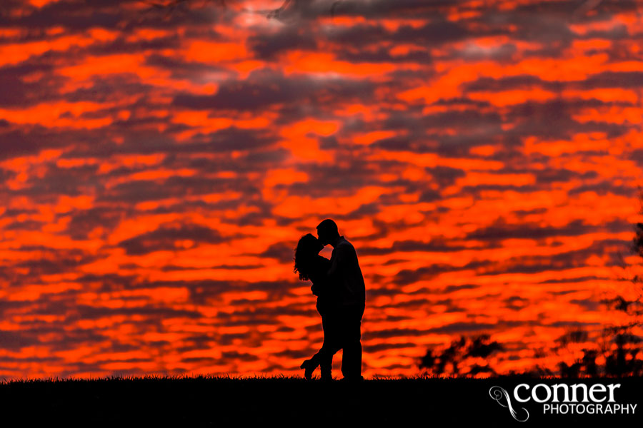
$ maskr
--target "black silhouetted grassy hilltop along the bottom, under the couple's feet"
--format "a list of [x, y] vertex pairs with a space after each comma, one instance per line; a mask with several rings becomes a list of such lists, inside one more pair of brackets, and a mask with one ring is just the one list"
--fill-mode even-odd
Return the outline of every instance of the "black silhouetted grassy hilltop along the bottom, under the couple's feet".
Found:
[[640, 417], [643, 409], [639, 408], [634, 415], [544, 415], [542, 404], [514, 401], [512, 405], [517, 411], [520, 407], [529, 410], [527, 422], [517, 422], [507, 407], [489, 396], [489, 389], [497, 385], [512, 394], [522, 382], [532, 386], [560, 382], [583, 382], [588, 386], [620, 383], [617, 402], [643, 401], [640, 377], [417, 377], [327, 384], [299, 377], [199, 376], [11, 381], [0, 384], [0, 403], [4, 426], [16, 427], [58, 423], [79, 427], [232, 427], [267, 423], [302, 427], [346, 423], [391, 427], [445, 423], [549, 427], [592, 422], [640, 426], [643, 419]]

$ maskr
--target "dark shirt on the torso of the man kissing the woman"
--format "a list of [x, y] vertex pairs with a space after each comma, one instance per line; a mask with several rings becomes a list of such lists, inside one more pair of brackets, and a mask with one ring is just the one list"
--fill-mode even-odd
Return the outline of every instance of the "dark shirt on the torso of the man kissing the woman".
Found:
[[357, 262], [357, 252], [353, 245], [344, 239], [344, 236], [339, 237], [339, 243], [334, 246], [330, 261], [328, 277], [332, 285], [339, 287], [340, 304], [364, 305], [366, 301], [364, 276]]

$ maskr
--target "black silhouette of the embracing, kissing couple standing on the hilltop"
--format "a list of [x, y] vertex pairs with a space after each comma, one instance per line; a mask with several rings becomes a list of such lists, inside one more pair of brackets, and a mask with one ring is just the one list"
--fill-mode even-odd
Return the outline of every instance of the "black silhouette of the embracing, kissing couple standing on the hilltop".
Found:
[[[333, 247], [330, 260], [319, 255], [327, 244]], [[321, 379], [332, 380], [333, 355], [343, 350], [342, 380], [363, 380], [361, 327], [366, 290], [355, 248], [327, 218], [317, 226], [317, 238], [311, 233], [301, 237], [294, 264], [299, 279], [312, 282], [324, 330], [321, 349], [301, 365], [304, 377], [311, 379], [319, 366]]]

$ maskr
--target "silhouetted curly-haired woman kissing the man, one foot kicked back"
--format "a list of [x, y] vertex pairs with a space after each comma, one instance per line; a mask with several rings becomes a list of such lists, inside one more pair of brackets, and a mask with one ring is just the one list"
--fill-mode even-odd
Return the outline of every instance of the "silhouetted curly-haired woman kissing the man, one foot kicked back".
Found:
[[324, 343], [321, 349], [310, 360], [305, 360], [301, 367], [304, 369], [304, 377], [311, 379], [312, 373], [321, 366], [321, 379], [332, 380], [333, 355], [337, 352], [334, 345], [337, 335], [334, 333], [334, 315], [337, 312], [338, 295], [327, 280], [327, 272], [330, 269], [330, 260], [319, 251], [324, 248], [319, 240], [308, 233], [299, 239], [294, 257], [294, 272], [299, 272], [299, 279], [310, 280], [310, 290], [317, 296], [317, 312], [321, 315], [321, 327], [324, 330]]

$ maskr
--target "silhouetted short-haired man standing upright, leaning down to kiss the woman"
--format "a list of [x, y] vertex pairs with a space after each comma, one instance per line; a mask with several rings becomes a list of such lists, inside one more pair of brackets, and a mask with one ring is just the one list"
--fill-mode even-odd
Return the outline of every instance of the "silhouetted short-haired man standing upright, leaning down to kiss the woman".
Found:
[[[359, 268], [357, 252], [351, 243], [339, 235], [337, 224], [327, 218], [317, 226], [317, 238], [321, 245], [333, 247], [328, 280], [331, 287], [337, 287], [337, 314], [332, 317], [333, 327], [329, 347], [324, 351], [324, 359], [340, 349], [342, 374], [347, 381], [363, 380], [362, 377], [362, 315], [366, 303], [364, 276]], [[344, 380], [343, 379], [343, 380]]]

